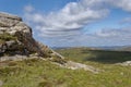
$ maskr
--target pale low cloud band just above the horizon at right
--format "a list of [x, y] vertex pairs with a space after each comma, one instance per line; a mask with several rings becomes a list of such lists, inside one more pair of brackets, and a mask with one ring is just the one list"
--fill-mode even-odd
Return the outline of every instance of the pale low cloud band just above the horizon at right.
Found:
[[[105, 28], [91, 35], [79, 35], [67, 39], [72, 46], [123, 46], [131, 44], [131, 27]], [[64, 44], [60, 42], [60, 44]], [[66, 45], [70, 46], [70, 45]]]

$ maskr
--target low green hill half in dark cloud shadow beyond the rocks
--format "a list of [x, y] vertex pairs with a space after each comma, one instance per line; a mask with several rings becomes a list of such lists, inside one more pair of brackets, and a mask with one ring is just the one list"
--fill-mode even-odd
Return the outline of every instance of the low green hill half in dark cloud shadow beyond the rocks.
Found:
[[73, 61], [95, 61], [100, 63], [119, 63], [131, 60], [130, 51], [111, 51], [88, 48], [69, 48], [56, 50]]

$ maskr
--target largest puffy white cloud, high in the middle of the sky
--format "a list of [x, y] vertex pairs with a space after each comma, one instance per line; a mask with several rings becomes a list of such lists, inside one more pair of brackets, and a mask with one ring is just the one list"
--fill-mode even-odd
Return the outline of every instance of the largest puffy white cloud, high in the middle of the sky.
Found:
[[[70, 32], [82, 29], [85, 25], [104, 18], [108, 14], [107, 9], [94, 5], [92, 3], [94, 0], [91, 0], [90, 5], [85, 4], [85, 1], [70, 2], [63, 9], [48, 14], [32, 13], [33, 9], [29, 5], [25, 8], [25, 17], [29, 23], [34, 23], [44, 35], [49, 34], [49, 32], [53, 33], [52, 35], [69, 32], [68, 35]], [[97, 9], [94, 9], [95, 7]]]

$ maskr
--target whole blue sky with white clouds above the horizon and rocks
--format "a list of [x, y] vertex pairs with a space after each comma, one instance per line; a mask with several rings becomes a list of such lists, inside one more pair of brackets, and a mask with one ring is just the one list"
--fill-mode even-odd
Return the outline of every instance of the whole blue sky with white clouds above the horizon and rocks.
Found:
[[49, 47], [131, 46], [131, 0], [0, 0]]

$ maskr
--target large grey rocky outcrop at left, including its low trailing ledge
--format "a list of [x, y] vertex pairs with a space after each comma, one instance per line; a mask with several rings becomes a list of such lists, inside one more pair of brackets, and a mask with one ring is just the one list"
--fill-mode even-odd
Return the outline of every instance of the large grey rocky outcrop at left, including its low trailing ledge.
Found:
[[[52, 61], [62, 67], [83, 69], [93, 73], [98, 70], [93, 66], [66, 61], [64, 58], [33, 38], [32, 28], [21, 17], [8, 13], [0, 13], [0, 61], [43, 59]], [[0, 80], [0, 86], [2, 82]]]

